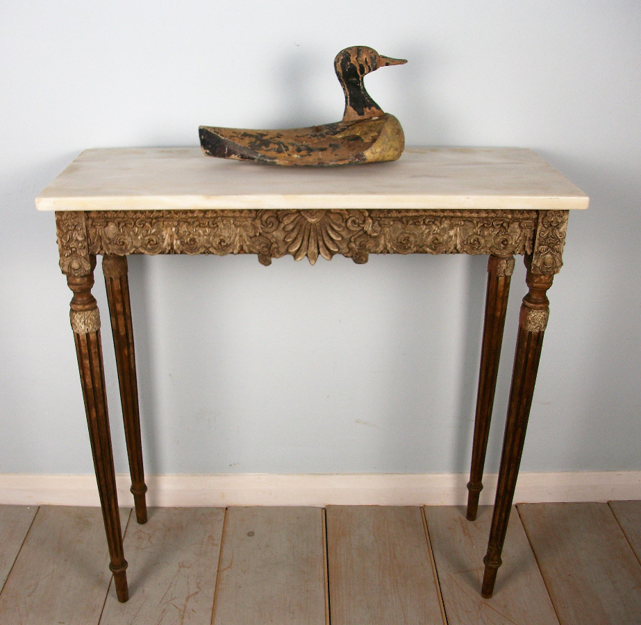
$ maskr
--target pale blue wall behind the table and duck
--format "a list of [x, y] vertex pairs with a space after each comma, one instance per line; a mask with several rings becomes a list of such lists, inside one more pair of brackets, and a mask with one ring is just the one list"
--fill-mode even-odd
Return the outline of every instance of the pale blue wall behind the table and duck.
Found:
[[[71, 293], [35, 196], [88, 147], [340, 119], [332, 60], [353, 44], [409, 59], [367, 79], [408, 144], [528, 147], [590, 196], [549, 292], [522, 468], [641, 469], [641, 3], [34, 0], [2, 3], [0, 24], [0, 473], [92, 471]], [[148, 472], [467, 471], [483, 258], [132, 258], [130, 272]], [[106, 327], [103, 342], [125, 472]]]

